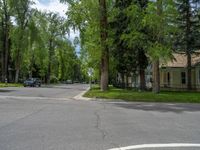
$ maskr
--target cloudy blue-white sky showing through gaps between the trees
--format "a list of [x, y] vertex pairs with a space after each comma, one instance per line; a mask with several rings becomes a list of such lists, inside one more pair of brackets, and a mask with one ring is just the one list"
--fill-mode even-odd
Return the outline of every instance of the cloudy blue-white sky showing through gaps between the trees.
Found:
[[[33, 0], [34, 1], [34, 5], [32, 6], [33, 8], [37, 8], [40, 11], [47, 11], [47, 12], [55, 12], [55, 13], [59, 13], [60, 16], [66, 18], [67, 16], [65, 15], [68, 6], [67, 4], [62, 4], [59, 2], [59, 0]], [[75, 37], [79, 37], [79, 32], [76, 31], [74, 32], [71, 29], [70, 32], [70, 37], [68, 37], [70, 39], [70, 41], [73, 42]], [[76, 48], [76, 51], [79, 52], [79, 46]]]

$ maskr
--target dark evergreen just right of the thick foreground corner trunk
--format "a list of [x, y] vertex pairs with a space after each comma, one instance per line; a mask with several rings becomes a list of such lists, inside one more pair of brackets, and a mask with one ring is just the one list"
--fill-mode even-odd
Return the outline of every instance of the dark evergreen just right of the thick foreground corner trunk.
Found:
[[116, 14], [110, 22], [113, 33], [112, 55], [115, 59], [116, 70], [121, 74], [121, 87], [127, 87], [127, 76], [137, 70], [137, 51], [129, 44], [131, 16], [127, 9], [132, 5], [132, 0], [117, 0], [114, 5]]

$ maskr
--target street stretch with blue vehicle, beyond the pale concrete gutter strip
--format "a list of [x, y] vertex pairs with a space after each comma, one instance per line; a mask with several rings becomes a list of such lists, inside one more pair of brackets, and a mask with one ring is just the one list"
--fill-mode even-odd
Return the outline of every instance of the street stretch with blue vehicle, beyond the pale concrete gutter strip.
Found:
[[72, 98], [85, 91], [89, 86], [81, 84], [61, 84], [38, 87], [10, 87], [0, 88], [0, 96], [17, 97], [48, 97], [48, 98]]

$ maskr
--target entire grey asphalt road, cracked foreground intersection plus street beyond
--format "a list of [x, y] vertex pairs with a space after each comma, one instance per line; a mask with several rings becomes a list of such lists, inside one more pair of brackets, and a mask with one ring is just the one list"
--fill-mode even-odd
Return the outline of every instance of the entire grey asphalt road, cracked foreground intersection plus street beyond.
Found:
[[[0, 150], [108, 150], [137, 144], [200, 143], [200, 105], [79, 101], [71, 98], [87, 87], [73, 87], [16, 88], [7, 94], [23, 96], [19, 93], [29, 89], [33, 93], [22, 99], [1, 97]], [[68, 100], [58, 100], [59, 93]]]

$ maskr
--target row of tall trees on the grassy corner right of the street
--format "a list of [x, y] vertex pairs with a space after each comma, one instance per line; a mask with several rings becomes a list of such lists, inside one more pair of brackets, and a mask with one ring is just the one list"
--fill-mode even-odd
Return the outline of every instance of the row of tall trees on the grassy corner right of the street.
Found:
[[174, 52], [187, 55], [191, 89], [191, 54], [200, 49], [199, 0], [61, 0], [68, 2], [69, 25], [80, 31], [82, 60], [95, 68], [101, 90], [120, 73], [138, 73], [145, 90], [145, 69], [152, 64], [153, 92], [160, 91], [160, 64]]

